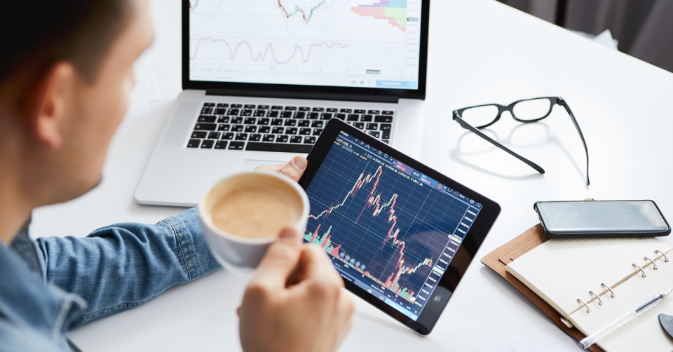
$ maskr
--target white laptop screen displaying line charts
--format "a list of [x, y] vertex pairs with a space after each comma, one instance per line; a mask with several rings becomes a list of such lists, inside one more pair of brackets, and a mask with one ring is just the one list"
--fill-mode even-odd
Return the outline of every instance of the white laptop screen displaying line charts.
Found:
[[418, 90], [421, 2], [190, 0], [189, 80]]

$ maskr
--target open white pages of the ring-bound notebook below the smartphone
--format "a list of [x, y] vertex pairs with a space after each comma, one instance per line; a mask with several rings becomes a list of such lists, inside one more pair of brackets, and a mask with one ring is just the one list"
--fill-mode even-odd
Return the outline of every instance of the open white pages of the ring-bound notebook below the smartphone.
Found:
[[[505, 269], [590, 335], [673, 288], [673, 248], [657, 238], [550, 239]], [[673, 314], [671, 298], [597, 344], [606, 352], [673, 351], [658, 321], [660, 313]]]

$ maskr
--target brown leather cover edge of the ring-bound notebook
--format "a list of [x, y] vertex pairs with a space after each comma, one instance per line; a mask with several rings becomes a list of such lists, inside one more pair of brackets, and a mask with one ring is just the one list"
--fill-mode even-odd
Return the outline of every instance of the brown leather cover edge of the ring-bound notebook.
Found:
[[[547, 240], [548, 238], [545, 236], [545, 230], [542, 225], [537, 224], [514, 238], [512, 241], [509, 241], [493, 252], [490, 252], [486, 257], [482, 258], [482, 263], [496, 271], [496, 273], [500, 274], [505, 280], [508, 280], [514, 287], [517, 287], [517, 290], [528, 297], [528, 299], [538, 306], [543, 313], [547, 314], [547, 316], [551, 318], [561, 330], [579, 341], [580, 339], [585, 338], [585, 335], [580, 332], [577, 327], [570, 328], [564, 325], [564, 323], [561, 322], [561, 318], [563, 318], [561, 313], [557, 312], [556, 309], [553, 309], [550, 304], [542, 299], [542, 297], [536, 295], [533, 290], [529, 289], [524, 283], [519, 281], [519, 279], [515, 278], [515, 276], [505, 270], [507, 264], [526, 254], [533, 248], [536, 248], [538, 245], [545, 243]], [[594, 352], [605, 352], [596, 344], [592, 345], [589, 349]]]

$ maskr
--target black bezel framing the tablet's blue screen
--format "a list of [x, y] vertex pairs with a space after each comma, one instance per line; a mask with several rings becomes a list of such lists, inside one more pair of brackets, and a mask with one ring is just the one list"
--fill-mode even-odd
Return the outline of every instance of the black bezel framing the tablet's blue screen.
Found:
[[465, 248], [467, 254], [470, 257], [470, 260], [451, 260], [451, 262], [449, 262], [449, 267], [447, 267], [444, 275], [442, 275], [439, 282], [437, 283], [433, 294], [428, 298], [426, 306], [423, 307], [423, 310], [419, 314], [418, 320], [414, 321], [412, 318], [405, 316], [403, 313], [397, 311], [392, 306], [384, 303], [381, 301], [381, 299], [378, 299], [374, 295], [358, 287], [355, 285], [355, 283], [351, 283], [351, 281], [344, 279], [346, 289], [353, 292], [353, 294], [385, 312], [388, 314], [388, 316], [395, 318], [395, 320], [399, 321], [400, 323], [407, 325], [407, 327], [418, 332], [419, 334], [429, 334], [430, 331], [433, 330], [435, 323], [437, 323], [437, 319], [444, 310], [444, 306], [447, 305], [451, 295], [456, 290], [458, 283], [463, 278], [463, 275], [468, 269], [469, 264], [473, 261], [473, 259], [475, 259], [477, 250], [479, 250], [480, 246], [484, 242], [484, 238], [486, 238], [487, 233], [491, 229], [491, 226], [493, 226], [494, 222], [496, 221], [496, 218], [498, 217], [498, 214], [501, 210], [500, 205], [494, 201], [491, 201], [491, 199], [478, 194], [472, 189], [463, 186], [463, 184], [460, 184], [451, 178], [442, 175], [442, 173], [433, 170], [427, 165], [416, 161], [414, 158], [402, 153], [402, 151], [398, 151], [397, 149], [390, 147], [390, 145], [386, 144], [385, 142], [381, 142], [381, 140], [377, 140], [364, 131], [359, 130], [358, 128], [355, 128], [339, 119], [331, 119], [327, 122], [327, 126], [325, 126], [325, 129], [322, 130], [320, 137], [318, 137], [318, 141], [315, 142], [313, 149], [311, 149], [311, 152], [306, 157], [308, 159], [308, 165], [306, 166], [304, 175], [301, 177], [301, 180], [299, 180], [299, 185], [304, 188], [304, 190], [308, 189], [308, 184], [311, 183], [315, 173], [318, 172], [320, 165], [322, 165], [322, 161], [325, 160], [325, 157], [334, 144], [334, 140], [337, 139], [341, 131], [348, 133], [348, 135], [353, 135], [354, 137], [362, 140], [372, 147], [379, 149], [380, 151], [393, 156], [393, 158], [396, 158], [402, 163], [409, 165], [411, 168], [414, 168], [428, 177], [433, 178], [437, 182], [440, 182], [441, 184], [444, 184], [451, 189], [455, 189], [464, 196], [474, 199], [477, 203], [482, 204], [482, 209], [475, 219], [475, 223], [470, 227], [468, 233], [465, 234], [463, 243], [461, 243], [461, 248]]

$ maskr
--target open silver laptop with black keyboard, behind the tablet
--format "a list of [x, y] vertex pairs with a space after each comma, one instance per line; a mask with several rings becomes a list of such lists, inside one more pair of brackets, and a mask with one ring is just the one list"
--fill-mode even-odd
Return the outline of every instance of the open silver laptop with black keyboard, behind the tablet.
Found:
[[182, 1], [182, 92], [135, 191], [195, 206], [341, 119], [419, 156], [429, 0]]

